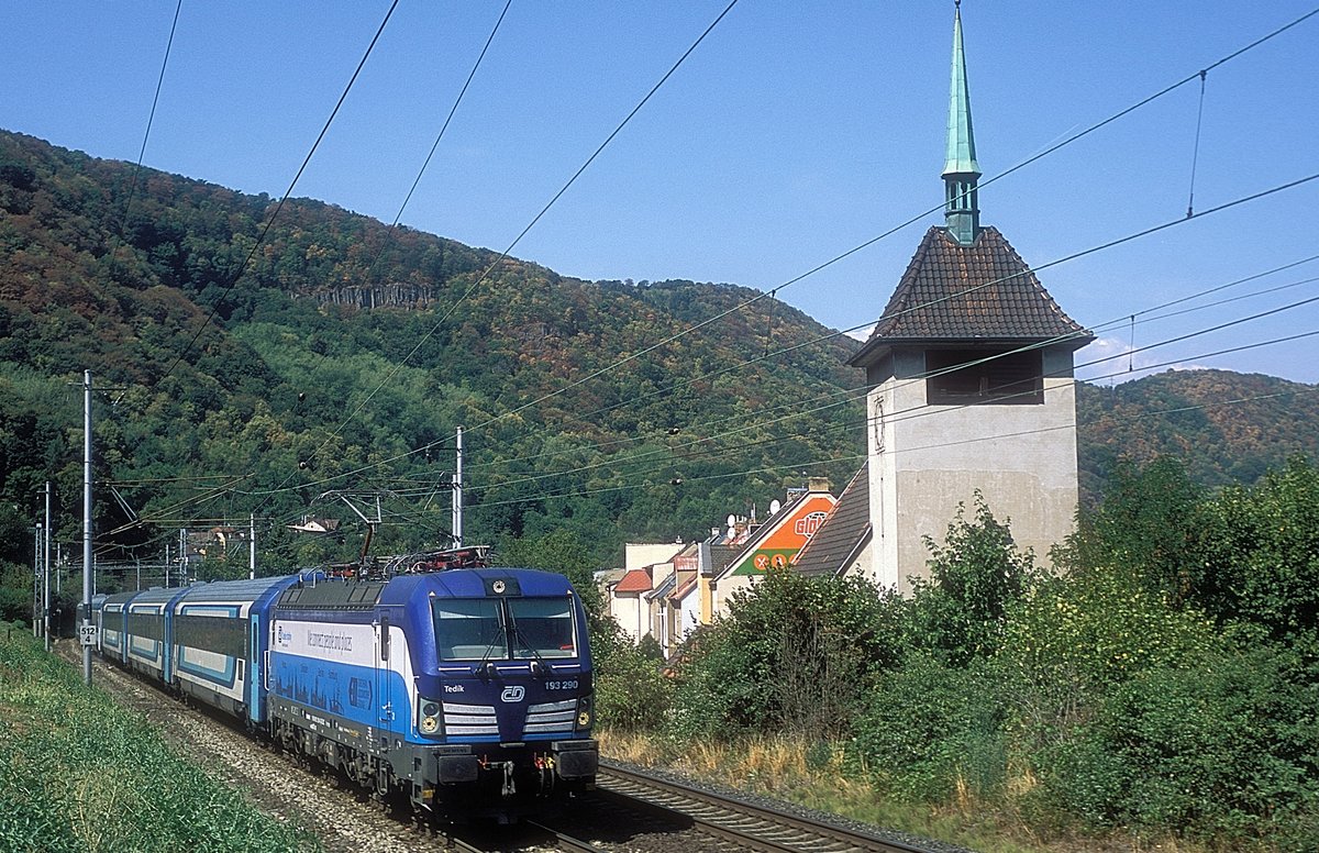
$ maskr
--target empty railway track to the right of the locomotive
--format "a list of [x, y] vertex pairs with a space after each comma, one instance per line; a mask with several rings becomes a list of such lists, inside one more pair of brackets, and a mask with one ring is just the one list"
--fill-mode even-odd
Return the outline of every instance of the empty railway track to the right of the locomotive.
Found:
[[819, 819], [748, 803], [732, 795], [600, 762], [599, 792], [692, 821], [704, 835], [741, 850], [772, 853], [934, 853], [946, 845], [917, 846]]

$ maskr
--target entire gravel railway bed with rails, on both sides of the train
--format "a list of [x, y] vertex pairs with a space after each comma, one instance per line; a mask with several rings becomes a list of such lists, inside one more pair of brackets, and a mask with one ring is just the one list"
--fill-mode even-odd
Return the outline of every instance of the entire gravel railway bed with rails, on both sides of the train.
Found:
[[[59, 649], [70, 658], [69, 649]], [[77, 651], [77, 649], [74, 649]], [[71, 659], [71, 658], [70, 658]], [[882, 837], [831, 824], [736, 795], [661, 779], [612, 762], [600, 762], [598, 791], [553, 819], [526, 821], [522, 831], [409, 825], [368, 806], [334, 780], [294, 770], [289, 762], [233, 726], [183, 707], [129, 674], [96, 661], [100, 687], [144, 713], [199, 763], [230, 782], [270, 813], [302, 823], [327, 852], [450, 849], [566, 850], [570, 853], [689, 853], [692, 850], [773, 850], [791, 853], [954, 853], [959, 848], [915, 838]], [[299, 804], [298, 808], [291, 808]], [[305, 808], [303, 808], [305, 807]]]

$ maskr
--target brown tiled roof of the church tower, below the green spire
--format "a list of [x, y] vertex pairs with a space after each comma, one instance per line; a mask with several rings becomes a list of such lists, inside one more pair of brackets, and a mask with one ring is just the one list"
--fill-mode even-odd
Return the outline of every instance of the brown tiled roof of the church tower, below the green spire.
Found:
[[900, 343], [1059, 339], [1071, 348], [1093, 336], [1067, 316], [997, 228], [971, 245], [931, 227], [907, 264], [865, 347], [848, 364]]

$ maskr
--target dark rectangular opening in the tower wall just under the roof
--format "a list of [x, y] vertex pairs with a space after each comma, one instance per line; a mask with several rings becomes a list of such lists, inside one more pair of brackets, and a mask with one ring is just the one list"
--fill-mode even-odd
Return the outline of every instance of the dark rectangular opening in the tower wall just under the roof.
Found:
[[930, 349], [925, 353], [926, 402], [1038, 405], [1045, 402], [1038, 349]]

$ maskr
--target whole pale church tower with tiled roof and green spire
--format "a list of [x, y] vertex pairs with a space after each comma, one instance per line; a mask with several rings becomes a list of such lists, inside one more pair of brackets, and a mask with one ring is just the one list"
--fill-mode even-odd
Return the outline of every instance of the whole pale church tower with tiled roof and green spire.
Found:
[[1093, 336], [1067, 316], [992, 225], [980, 225], [962, 11], [943, 167], [944, 224], [931, 227], [869, 340], [865, 370], [874, 580], [910, 592], [923, 537], [943, 541], [979, 490], [1021, 548], [1047, 564], [1078, 502], [1072, 363]]

